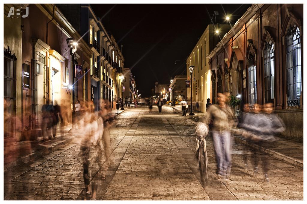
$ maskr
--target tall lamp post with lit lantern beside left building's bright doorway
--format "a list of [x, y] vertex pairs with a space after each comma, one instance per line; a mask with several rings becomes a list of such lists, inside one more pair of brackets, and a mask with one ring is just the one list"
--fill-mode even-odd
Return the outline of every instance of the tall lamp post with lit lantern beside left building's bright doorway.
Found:
[[73, 38], [66, 39], [68, 47], [70, 49], [70, 56], [72, 58], [72, 70], [71, 70], [71, 85], [69, 88], [72, 90], [72, 128], [69, 132], [72, 132], [73, 128], [76, 128], [76, 110], [75, 110], [75, 58], [78, 43]]

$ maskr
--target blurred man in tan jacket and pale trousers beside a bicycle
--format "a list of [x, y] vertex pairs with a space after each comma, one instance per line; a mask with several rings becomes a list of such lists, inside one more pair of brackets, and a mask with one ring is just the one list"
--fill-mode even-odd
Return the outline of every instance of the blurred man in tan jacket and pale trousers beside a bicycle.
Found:
[[206, 116], [202, 118], [205, 124], [209, 124], [211, 119], [213, 121], [212, 137], [218, 176], [228, 176], [231, 171], [230, 130], [235, 126], [235, 116], [225, 101], [225, 95], [218, 93], [217, 104], [209, 106]]

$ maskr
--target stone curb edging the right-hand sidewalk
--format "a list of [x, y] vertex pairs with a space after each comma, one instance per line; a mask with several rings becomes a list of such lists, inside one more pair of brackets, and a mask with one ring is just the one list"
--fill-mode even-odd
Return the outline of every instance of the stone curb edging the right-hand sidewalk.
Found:
[[[173, 109], [175, 109], [178, 113], [180, 112], [176, 108], [173, 108]], [[196, 116], [189, 116], [189, 118], [192, 119], [195, 122], [199, 121], [198, 117], [196, 117]], [[235, 141], [240, 142], [242, 144], [245, 144], [245, 145], [247, 145], [249, 147], [252, 147], [252, 148], [254, 148], [256, 150], [265, 152], [266, 154], [269, 154], [271, 157], [273, 157], [275, 159], [278, 159], [280, 161], [284, 161], [284, 162], [290, 163], [290, 164], [292, 164], [294, 166], [297, 166], [297, 167], [300, 167], [300, 168], [304, 168], [304, 162], [302, 160], [300, 160], [300, 159], [296, 159], [296, 158], [293, 158], [293, 157], [290, 157], [290, 156], [286, 156], [285, 154], [281, 154], [279, 152], [271, 150], [270, 148], [261, 147], [259, 145], [256, 145], [255, 143], [252, 143], [252, 142], [247, 141], [245, 139], [241, 139], [241, 138], [239, 138], [237, 136], [235, 136]]]

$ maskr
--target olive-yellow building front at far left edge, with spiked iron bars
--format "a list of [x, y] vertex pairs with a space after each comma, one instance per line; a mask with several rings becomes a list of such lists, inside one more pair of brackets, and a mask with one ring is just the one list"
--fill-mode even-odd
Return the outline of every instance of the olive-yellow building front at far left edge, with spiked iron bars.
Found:
[[[11, 8], [26, 8], [28, 4], [4, 4], [4, 56], [3, 56], [3, 137], [4, 145], [19, 140], [22, 122], [22, 24], [17, 18], [8, 17]], [[21, 10], [22, 12], [25, 9]], [[22, 14], [23, 15], [23, 14]], [[29, 83], [29, 82], [28, 82]], [[18, 123], [18, 124], [17, 124]], [[20, 131], [16, 131], [16, 129]]]

